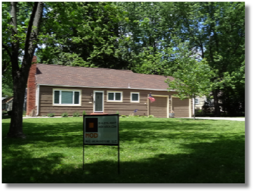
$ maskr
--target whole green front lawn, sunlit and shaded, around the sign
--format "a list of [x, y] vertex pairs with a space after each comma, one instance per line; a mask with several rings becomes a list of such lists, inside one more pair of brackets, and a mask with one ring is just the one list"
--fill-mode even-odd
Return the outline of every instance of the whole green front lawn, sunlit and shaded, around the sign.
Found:
[[[2, 183], [245, 183], [245, 122], [120, 118], [117, 146], [84, 146], [82, 117], [26, 118], [2, 139]], [[2, 120], [2, 137], [10, 119]]]

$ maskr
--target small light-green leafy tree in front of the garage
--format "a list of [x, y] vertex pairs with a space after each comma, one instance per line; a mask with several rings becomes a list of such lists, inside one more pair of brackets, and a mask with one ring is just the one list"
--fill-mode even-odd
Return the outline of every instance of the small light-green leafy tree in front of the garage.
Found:
[[[166, 83], [169, 85], [168, 89], [173, 89], [178, 92], [175, 95], [181, 100], [190, 98], [195, 101], [197, 96], [209, 96], [212, 84], [210, 78], [213, 72], [207, 64], [207, 61], [204, 59], [198, 61], [195, 54], [187, 49], [186, 44], [180, 44], [179, 50], [175, 52], [186, 54], [182, 56], [177, 55], [175, 59], [175, 71], [172, 73], [174, 80], [166, 80]], [[195, 103], [193, 108], [195, 110]]]

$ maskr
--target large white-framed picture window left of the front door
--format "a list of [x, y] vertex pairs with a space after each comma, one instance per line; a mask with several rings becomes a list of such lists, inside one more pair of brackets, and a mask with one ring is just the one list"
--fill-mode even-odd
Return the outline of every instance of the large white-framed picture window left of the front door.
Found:
[[53, 105], [81, 106], [81, 90], [53, 89]]

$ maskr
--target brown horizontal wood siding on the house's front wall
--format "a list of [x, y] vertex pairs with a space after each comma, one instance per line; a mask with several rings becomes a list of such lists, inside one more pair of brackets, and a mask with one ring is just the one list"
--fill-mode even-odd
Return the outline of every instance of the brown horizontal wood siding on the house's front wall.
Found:
[[[80, 89], [81, 90], [81, 106], [54, 106], [53, 105], [53, 89]], [[78, 112], [82, 115], [85, 110], [87, 114], [93, 113], [93, 97], [94, 91], [104, 91], [104, 113], [119, 115], [140, 115], [148, 116], [148, 103], [151, 103], [147, 97], [150, 92], [152, 95], [168, 95], [169, 97], [176, 92], [167, 91], [146, 91], [142, 89], [109, 89], [109, 88], [81, 88], [81, 87], [59, 87], [59, 86], [40, 86], [39, 94], [39, 116], [47, 116], [49, 113], [55, 113], [55, 116], [61, 116], [62, 113], [68, 113], [72, 116]], [[107, 102], [107, 91], [123, 92], [123, 102]], [[131, 92], [140, 93], [139, 103], [131, 102]], [[154, 103], [154, 102], [153, 102]], [[136, 113], [134, 110], [138, 109]], [[188, 107], [187, 107], [188, 109]], [[169, 103], [169, 111], [172, 110]], [[184, 115], [189, 117], [189, 115]]]

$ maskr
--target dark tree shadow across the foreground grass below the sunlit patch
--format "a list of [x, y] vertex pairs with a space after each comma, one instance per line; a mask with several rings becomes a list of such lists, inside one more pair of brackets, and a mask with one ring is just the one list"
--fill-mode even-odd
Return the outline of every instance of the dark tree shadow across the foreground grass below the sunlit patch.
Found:
[[[64, 153], [32, 158], [20, 149], [2, 160], [2, 183], [244, 183], [244, 138], [181, 145], [190, 154], [156, 154], [137, 161], [62, 163]], [[122, 153], [121, 153], [122, 155]], [[82, 157], [82, 155], [81, 155]]]

